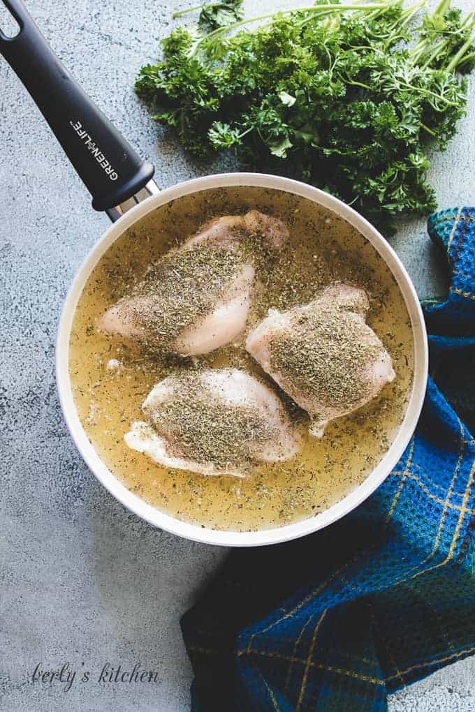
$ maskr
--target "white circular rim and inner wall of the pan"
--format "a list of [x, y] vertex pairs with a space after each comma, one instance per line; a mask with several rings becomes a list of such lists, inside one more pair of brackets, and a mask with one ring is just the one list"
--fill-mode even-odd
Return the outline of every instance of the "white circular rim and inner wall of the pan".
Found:
[[[91, 271], [93, 271], [93, 268], [110, 245], [135, 221], [155, 210], [158, 206], [186, 194], [232, 186], [259, 187], [291, 192], [333, 211], [352, 224], [380, 253], [380, 256], [395, 276], [407, 306], [414, 337], [414, 381], [404, 421], [395, 441], [393, 441], [390, 449], [372, 473], [343, 500], [324, 512], [293, 524], [253, 532], [221, 531], [189, 524], [165, 514], [130, 492], [105, 466], [90, 444], [88, 436], [80, 424], [73, 400], [68, 366], [69, 338], [75, 307]], [[98, 480], [125, 507], [151, 524], [187, 539], [222, 546], [256, 546], [295, 539], [327, 526], [362, 503], [390, 473], [412, 436], [424, 400], [427, 364], [427, 335], [417, 293], [402, 262], [382, 235], [367, 220], [357, 214], [355, 210], [323, 191], [291, 179], [256, 173], [216, 174], [181, 183], [138, 204], [122, 216], [119, 221], [110, 226], [85, 258], [83, 265], [75, 276], [63, 306], [56, 342], [56, 379], [63, 415], [76, 446]]]

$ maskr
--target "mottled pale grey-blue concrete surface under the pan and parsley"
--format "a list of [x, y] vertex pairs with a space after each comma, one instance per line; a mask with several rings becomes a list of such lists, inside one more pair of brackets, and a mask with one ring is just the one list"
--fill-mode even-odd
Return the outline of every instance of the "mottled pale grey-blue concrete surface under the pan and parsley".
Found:
[[[1, 3], [0, 3], [1, 5]], [[279, 6], [283, 6], [281, 3]], [[473, 0], [459, 0], [473, 9]], [[132, 91], [157, 56], [176, 0], [29, 0], [47, 38], [163, 187], [216, 169], [183, 155]], [[262, 9], [277, 7], [265, 0]], [[249, 11], [253, 8], [249, 3]], [[0, 21], [1, 26], [1, 21]], [[184, 712], [190, 669], [179, 633], [184, 612], [226, 552], [154, 530], [95, 481], [63, 424], [53, 374], [54, 337], [68, 284], [108, 219], [88, 195], [15, 76], [0, 61], [1, 592], [0, 708]], [[441, 206], [475, 201], [475, 83], [470, 118], [431, 178]], [[422, 296], [442, 293], [424, 220], [394, 241]], [[140, 661], [157, 684], [80, 684], [82, 671]], [[37, 664], [78, 671], [70, 691], [31, 684]], [[390, 710], [475, 709], [475, 660], [427, 678]]]

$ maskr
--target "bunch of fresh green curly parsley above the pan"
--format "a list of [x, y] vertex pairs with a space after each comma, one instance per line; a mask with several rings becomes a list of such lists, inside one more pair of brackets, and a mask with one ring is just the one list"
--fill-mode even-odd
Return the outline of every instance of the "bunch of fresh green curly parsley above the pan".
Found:
[[[240, 29], [241, 0], [202, 6], [136, 90], [198, 155], [234, 150], [249, 169], [291, 175], [394, 229], [436, 207], [427, 146], [444, 150], [465, 113], [475, 13], [442, 0], [340, 4], [264, 16]], [[231, 33], [231, 30], [238, 30]]]

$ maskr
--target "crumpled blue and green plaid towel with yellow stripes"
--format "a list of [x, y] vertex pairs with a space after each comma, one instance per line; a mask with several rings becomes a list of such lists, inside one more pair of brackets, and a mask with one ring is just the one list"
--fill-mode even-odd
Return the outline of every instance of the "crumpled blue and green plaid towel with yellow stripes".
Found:
[[451, 285], [423, 304], [432, 377], [417, 431], [343, 520], [229, 556], [182, 619], [193, 712], [379, 712], [475, 652], [475, 208], [428, 227]]

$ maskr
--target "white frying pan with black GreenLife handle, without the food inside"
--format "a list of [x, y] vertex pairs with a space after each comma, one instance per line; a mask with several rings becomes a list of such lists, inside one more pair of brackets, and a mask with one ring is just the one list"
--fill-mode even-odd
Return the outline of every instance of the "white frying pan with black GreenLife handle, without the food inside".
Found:
[[[152, 164], [142, 161], [109, 120], [63, 67], [26, 11], [21, 0], [2, 0], [19, 24], [8, 38], [0, 31], [0, 53], [35, 100], [76, 172], [93, 198], [93, 208], [105, 211], [113, 224], [95, 244], [75, 276], [63, 306], [56, 343], [56, 379], [63, 415], [83, 459], [105, 488], [123, 505], [153, 525], [179, 536], [226, 546], [278, 543], [306, 535], [343, 517], [387, 477], [414, 432], [427, 382], [427, 335], [416, 291], [382, 235], [353, 208], [329, 194], [288, 178], [260, 173], [217, 174], [197, 178], [160, 192], [152, 180]], [[343, 500], [308, 519], [249, 532], [202, 528], [167, 515], [129, 491], [105, 466], [90, 444], [75, 409], [68, 371], [69, 337], [75, 307], [90, 273], [101, 256], [125, 230], [157, 207], [194, 192], [217, 187], [276, 189], [306, 198], [345, 219], [380, 254], [390, 268], [407, 306], [414, 339], [414, 380], [404, 421], [395, 440], [365, 481]]]

